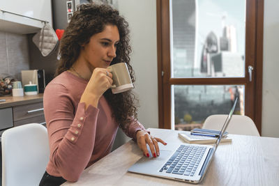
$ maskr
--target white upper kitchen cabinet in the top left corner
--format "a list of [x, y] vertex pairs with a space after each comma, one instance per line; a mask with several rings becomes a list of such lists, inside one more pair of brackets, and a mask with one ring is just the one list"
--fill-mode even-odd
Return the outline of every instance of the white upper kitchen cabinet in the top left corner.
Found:
[[40, 20], [49, 22], [52, 26], [51, 0], [0, 0], [1, 31], [20, 34], [36, 33], [45, 24]]

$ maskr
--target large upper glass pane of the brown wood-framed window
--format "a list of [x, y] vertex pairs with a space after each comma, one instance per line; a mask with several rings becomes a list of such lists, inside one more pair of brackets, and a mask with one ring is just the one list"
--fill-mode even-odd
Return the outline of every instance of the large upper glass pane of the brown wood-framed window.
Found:
[[170, 1], [172, 77], [245, 76], [245, 0]]

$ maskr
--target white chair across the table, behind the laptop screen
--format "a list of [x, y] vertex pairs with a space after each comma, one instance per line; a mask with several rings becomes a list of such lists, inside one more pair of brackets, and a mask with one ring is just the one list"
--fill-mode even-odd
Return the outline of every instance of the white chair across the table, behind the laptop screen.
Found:
[[[221, 130], [226, 118], [227, 115], [225, 114], [211, 115], [206, 118], [202, 128]], [[229, 132], [229, 134], [242, 134], [259, 137], [259, 132], [257, 131], [255, 123], [248, 116], [232, 115], [232, 119], [227, 126], [227, 132]]]

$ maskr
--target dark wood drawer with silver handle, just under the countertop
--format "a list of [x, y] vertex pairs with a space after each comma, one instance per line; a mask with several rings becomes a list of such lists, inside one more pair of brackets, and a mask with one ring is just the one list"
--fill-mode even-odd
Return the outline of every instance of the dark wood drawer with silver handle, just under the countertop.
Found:
[[20, 121], [27, 118], [43, 115], [43, 102], [24, 104], [13, 107], [13, 121]]

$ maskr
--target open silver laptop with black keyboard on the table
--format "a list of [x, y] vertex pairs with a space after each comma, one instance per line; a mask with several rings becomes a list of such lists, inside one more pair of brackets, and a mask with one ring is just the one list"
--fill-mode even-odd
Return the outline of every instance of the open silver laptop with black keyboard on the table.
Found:
[[128, 171], [188, 183], [201, 182], [229, 125], [237, 100], [238, 98], [234, 101], [214, 146], [177, 143], [168, 143], [167, 146], [163, 146], [159, 144], [160, 156], [142, 157], [130, 166]]

